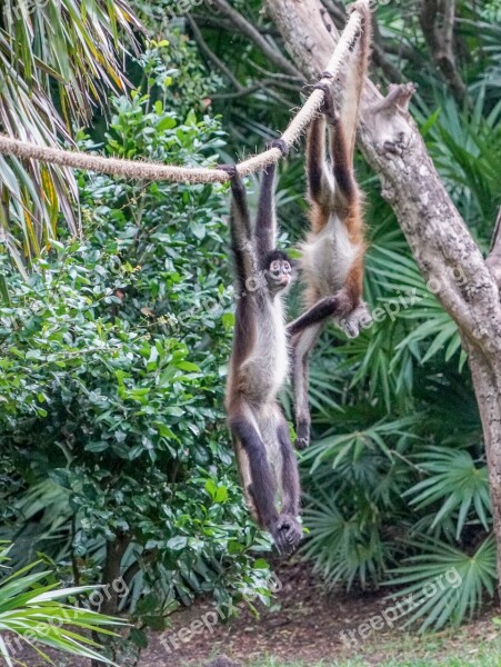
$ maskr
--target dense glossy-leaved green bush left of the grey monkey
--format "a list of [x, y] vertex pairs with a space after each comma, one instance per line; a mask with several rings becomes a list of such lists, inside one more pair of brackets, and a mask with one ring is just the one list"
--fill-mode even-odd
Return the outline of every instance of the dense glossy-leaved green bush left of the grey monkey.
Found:
[[[158, 50], [148, 58], [160, 67]], [[164, 100], [169, 84], [154, 84]], [[154, 97], [113, 100], [106, 150], [212, 163], [219, 121]], [[229, 468], [222, 412], [233, 323], [223, 189], [92, 175], [79, 186], [84, 242], [52, 243], [28, 282], [0, 256], [0, 448], [18, 471], [4, 499], [44, 522], [39, 540], [67, 540], [67, 576], [123, 576], [140, 627], [164, 627], [197, 594], [267, 599], [253, 551], [270, 542]]]

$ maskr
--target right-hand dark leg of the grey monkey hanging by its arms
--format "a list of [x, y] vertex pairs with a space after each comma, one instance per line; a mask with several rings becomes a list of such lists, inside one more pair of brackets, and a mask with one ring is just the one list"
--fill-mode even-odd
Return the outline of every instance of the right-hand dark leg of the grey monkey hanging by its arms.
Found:
[[302, 539], [301, 524], [298, 521], [300, 502], [300, 482], [298, 461], [292, 449], [289, 426], [280, 412], [278, 415], [277, 438], [281, 455], [282, 508], [278, 521], [277, 540], [283, 544], [283, 550], [295, 551]]

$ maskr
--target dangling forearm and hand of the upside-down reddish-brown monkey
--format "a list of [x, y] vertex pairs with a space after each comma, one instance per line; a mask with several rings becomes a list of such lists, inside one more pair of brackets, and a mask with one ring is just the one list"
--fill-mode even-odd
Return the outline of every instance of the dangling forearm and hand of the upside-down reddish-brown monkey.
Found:
[[292, 384], [294, 392], [295, 447], [304, 449], [310, 444], [309, 354], [313, 348], [321, 323], [303, 329], [292, 338]]

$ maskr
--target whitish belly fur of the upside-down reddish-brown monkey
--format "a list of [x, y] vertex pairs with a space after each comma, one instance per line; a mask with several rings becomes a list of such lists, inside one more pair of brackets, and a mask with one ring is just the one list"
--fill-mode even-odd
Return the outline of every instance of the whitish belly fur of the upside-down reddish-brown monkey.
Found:
[[322, 231], [310, 235], [301, 250], [301, 267], [308, 282], [327, 297], [344, 285], [361, 247], [350, 241], [345, 226], [338, 216], [331, 215]]

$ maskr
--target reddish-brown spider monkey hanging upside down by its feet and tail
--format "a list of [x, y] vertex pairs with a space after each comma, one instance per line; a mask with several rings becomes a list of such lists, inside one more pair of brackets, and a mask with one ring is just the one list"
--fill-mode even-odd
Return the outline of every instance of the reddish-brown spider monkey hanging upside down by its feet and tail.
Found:
[[[288, 327], [292, 345], [292, 381], [297, 447], [310, 442], [308, 357], [323, 323], [333, 318], [349, 337], [355, 337], [371, 317], [362, 301], [365, 242], [362, 193], [353, 176], [353, 152], [363, 80], [369, 64], [371, 16], [365, 2], [357, 2], [361, 33], [345, 67], [342, 104], [332, 87], [319, 82], [324, 93], [321, 116], [311, 122], [307, 143], [307, 179], [311, 231], [302, 243], [301, 270], [307, 282], [308, 310]], [[323, 78], [331, 78], [329, 72]], [[325, 121], [330, 163], [325, 159]]]

